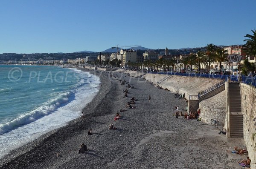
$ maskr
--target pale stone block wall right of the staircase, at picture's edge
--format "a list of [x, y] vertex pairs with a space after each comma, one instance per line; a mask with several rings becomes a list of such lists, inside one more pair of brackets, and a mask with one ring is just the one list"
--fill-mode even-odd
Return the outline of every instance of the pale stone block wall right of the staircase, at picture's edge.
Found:
[[248, 154], [251, 159], [251, 169], [256, 168], [256, 88], [244, 83], [240, 83], [241, 109], [244, 119], [244, 142], [247, 146]]

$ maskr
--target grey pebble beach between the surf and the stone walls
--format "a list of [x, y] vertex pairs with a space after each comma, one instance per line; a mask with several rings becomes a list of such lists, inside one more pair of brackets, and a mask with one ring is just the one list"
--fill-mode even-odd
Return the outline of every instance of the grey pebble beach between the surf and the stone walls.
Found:
[[[123, 98], [125, 85], [110, 80], [104, 72], [100, 78], [102, 88], [83, 109], [90, 112], [85, 119], [72, 120], [22, 147], [25, 154], [15, 157], [22, 150], [13, 151], [9, 156], [13, 159], [0, 160], [0, 168], [222, 168], [227, 164], [236, 168], [232, 165], [236, 157], [224, 152], [236, 140], [221, 137], [213, 130], [218, 128], [202, 122], [175, 119], [174, 106], [186, 105], [185, 100], [175, 99], [172, 92], [157, 89], [142, 78], [130, 77], [122, 79], [135, 89], [129, 89], [131, 94]], [[117, 130], [108, 130], [116, 111], [123, 109], [132, 96], [139, 99], [136, 108], [120, 113], [123, 119], [115, 122]], [[90, 128], [94, 133], [91, 137], [87, 136]], [[83, 142], [89, 152], [78, 155]], [[207, 163], [209, 160], [211, 163]]]

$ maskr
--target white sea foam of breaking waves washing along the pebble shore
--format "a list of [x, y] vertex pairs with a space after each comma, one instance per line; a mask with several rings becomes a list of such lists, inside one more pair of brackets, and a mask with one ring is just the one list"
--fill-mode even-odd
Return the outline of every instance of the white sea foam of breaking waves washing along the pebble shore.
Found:
[[83, 74], [78, 83], [70, 86], [68, 92], [51, 91], [55, 98], [39, 108], [22, 115], [15, 120], [0, 125], [0, 158], [25, 143], [39, 137], [45, 132], [64, 126], [68, 121], [81, 116], [81, 110], [99, 91], [99, 77], [87, 72], [73, 71]]

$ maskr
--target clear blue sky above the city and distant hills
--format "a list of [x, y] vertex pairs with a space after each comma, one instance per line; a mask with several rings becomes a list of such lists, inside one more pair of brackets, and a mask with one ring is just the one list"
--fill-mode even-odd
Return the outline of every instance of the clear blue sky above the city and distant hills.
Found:
[[1, 53], [244, 44], [256, 0], [0, 0]]

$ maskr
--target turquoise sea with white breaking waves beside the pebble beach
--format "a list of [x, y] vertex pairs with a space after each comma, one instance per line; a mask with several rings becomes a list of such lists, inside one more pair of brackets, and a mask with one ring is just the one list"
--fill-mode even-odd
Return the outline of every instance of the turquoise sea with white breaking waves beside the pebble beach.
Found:
[[100, 83], [75, 68], [0, 65], [0, 158], [81, 116]]

